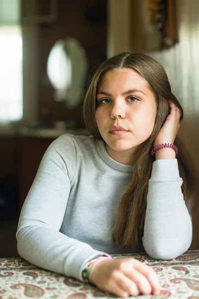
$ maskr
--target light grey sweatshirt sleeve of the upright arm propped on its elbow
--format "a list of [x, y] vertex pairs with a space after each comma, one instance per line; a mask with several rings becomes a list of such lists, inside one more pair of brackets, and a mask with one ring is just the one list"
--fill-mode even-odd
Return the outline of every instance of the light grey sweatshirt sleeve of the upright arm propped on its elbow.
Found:
[[185, 204], [177, 159], [153, 162], [144, 224], [143, 246], [154, 259], [174, 259], [192, 242], [192, 219]]

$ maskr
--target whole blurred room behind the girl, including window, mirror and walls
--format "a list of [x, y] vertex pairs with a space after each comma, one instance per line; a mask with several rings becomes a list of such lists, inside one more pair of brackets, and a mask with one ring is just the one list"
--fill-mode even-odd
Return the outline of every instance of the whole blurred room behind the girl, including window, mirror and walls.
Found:
[[[47, 147], [88, 135], [88, 80], [112, 55], [144, 50], [165, 67], [199, 170], [198, 16], [199, 0], [0, 0], [0, 257], [18, 256], [20, 209]], [[199, 249], [199, 215], [193, 224]]]

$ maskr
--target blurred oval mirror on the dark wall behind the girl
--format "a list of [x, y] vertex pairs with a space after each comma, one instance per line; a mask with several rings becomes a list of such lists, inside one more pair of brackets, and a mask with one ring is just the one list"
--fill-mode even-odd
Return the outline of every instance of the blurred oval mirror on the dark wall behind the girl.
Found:
[[58, 40], [47, 60], [47, 75], [57, 102], [69, 109], [77, 107], [84, 96], [88, 63], [84, 48], [72, 37]]

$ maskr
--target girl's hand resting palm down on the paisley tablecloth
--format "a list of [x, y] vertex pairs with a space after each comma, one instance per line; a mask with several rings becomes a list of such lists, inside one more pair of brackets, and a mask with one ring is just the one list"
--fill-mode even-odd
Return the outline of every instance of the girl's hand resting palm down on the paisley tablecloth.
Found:
[[94, 266], [91, 280], [101, 290], [119, 297], [160, 292], [155, 271], [133, 258], [102, 259]]

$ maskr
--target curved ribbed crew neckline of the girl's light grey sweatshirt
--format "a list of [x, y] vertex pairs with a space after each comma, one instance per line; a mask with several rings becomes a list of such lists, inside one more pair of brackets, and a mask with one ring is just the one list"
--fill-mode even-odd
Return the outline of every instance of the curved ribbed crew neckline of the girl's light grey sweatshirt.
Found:
[[122, 172], [132, 172], [133, 171], [133, 165], [126, 165], [122, 164], [120, 162], [115, 161], [109, 154], [107, 153], [105, 149], [105, 143], [103, 140], [96, 140], [96, 147], [98, 154], [100, 158], [106, 163], [109, 167], [122, 171]]

